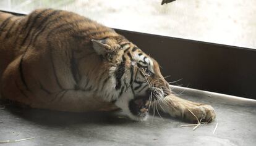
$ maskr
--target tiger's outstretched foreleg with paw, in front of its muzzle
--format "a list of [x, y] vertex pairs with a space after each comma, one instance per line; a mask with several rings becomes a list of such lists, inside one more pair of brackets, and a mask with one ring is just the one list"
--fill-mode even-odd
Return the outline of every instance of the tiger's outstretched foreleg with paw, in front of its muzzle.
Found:
[[[173, 94], [164, 97], [163, 100], [156, 101], [155, 104], [157, 110], [192, 123], [211, 122], [216, 117], [215, 110], [211, 105], [190, 102]], [[151, 104], [152, 107], [154, 108], [153, 104]]]

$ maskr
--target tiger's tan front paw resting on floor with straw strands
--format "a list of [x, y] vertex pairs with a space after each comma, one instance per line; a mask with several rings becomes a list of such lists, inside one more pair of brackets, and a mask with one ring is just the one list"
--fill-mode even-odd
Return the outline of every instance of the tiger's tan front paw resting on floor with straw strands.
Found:
[[199, 103], [184, 109], [183, 118], [192, 123], [207, 122], [215, 120], [216, 113], [211, 105]]

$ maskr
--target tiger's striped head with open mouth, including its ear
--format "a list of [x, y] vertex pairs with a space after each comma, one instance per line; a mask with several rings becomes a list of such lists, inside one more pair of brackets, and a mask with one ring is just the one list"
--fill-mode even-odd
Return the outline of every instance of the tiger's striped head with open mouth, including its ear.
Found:
[[152, 101], [171, 94], [158, 62], [123, 36], [92, 39], [92, 44], [108, 70], [102, 83], [103, 98], [132, 120], [146, 120]]

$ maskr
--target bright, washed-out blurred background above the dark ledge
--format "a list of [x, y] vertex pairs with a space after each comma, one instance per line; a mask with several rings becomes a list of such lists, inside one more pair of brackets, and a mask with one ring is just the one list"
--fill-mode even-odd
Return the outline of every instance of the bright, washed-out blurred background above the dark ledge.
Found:
[[0, 9], [70, 10], [111, 28], [256, 49], [255, 0], [1, 0]]

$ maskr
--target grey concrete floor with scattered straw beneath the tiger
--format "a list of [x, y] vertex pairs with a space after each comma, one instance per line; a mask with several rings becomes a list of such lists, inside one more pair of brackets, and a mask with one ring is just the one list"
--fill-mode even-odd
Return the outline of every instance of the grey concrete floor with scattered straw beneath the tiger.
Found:
[[213, 105], [217, 119], [193, 131], [193, 127], [181, 128], [187, 123], [164, 113], [163, 118], [150, 116], [148, 121], [134, 122], [116, 113], [66, 113], [6, 105], [0, 110], [0, 141], [35, 139], [0, 145], [256, 145], [256, 100], [176, 89], [182, 91], [182, 98]]

